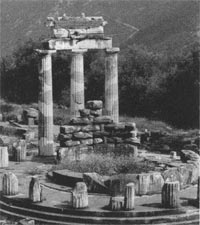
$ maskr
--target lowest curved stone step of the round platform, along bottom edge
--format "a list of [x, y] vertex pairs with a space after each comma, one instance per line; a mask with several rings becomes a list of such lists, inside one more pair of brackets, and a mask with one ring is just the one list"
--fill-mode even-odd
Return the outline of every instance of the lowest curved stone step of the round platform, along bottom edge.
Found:
[[42, 212], [38, 210], [31, 210], [24, 207], [17, 207], [14, 205], [9, 205], [4, 202], [0, 202], [1, 209], [11, 211], [13, 213], [26, 215], [27, 217], [33, 216], [40, 219], [48, 218], [49, 220], [57, 220], [60, 222], [70, 222], [72, 223], [83, 223], [83, 224], [161, 224], [171, 222], [185, 222], [189, 220], [197, 220], [199, 218], [198, 211], [190, 212], [181, 215], [165, 215], [165, 216], [156, 216], [156, 217], [93, 217], [93, 216], [74, 216], [66, 214], [56, 214], [49, 212]]

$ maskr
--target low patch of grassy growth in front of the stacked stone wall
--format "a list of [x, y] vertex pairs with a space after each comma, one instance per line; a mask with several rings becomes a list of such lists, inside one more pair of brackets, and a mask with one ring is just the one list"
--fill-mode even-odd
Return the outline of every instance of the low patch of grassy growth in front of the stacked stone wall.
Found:
[[81, 161], [66, 161], [54, 166], [53, 170], [69, 169], [75, 172], [96, 172], [100, 175], [119, 173], [142, 173], [154, 170], [155, 165], [147, 161], [137, 161], [134, 157], [91, 153]]

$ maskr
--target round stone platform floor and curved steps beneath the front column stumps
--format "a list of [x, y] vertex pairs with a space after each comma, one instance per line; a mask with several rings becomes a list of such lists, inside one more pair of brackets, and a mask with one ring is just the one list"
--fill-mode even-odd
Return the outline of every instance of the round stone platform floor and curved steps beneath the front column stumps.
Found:
[[[19, 179], [20, 195], [1, 195], [0, 211], [19, 218], [32, 218], [38, 224], [199, 224], [199, 209], [193, 205], [197, 185], [180, 191], [181, 207], [161, 207], [161, 195], [135, 197], [135, 209], [131, 211], [110, 211], [109, 195], [89, 194], [89, 207], [71, 208], [71, 188], [52, 183], [46, 179], [50, 164], [42, 162], [10, 162], [9, 169], [0, 169], [0, 178], [7, 171], [14, 172]], [[31, 203], [28, 199], [28, 185], [33, 173], [38, 173], [43, 186], [44, 201]], [[0, 184], [1, 189], [1, 184]]]

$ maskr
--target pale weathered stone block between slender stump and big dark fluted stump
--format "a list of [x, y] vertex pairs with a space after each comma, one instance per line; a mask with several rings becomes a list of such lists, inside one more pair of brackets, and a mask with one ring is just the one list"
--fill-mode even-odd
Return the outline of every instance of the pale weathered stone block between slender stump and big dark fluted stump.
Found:
[[159, 172], [142, 173], [138, 175], [138, 194], [161, 193], [164, 179]]

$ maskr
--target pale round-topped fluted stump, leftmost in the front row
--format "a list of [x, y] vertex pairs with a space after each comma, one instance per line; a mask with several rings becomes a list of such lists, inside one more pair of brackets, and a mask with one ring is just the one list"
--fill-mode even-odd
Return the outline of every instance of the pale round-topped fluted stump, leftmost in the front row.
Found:
[[2, 193], [9, 196], [18, 194], [18, 179], [14, 173], [9, 172], [3, 175]]

